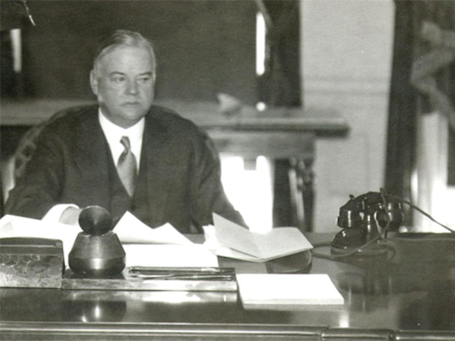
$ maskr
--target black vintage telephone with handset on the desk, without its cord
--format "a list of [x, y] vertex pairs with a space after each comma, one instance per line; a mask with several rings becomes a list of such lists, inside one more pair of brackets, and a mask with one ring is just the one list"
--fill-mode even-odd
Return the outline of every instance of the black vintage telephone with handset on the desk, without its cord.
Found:
[[378, 247], [381, 240], [378, 225], [383, 231], [398, 230], [403, 223], [401, 209], [400, 201], [382, 191], [356, 197], [351, 195], [338, 213], [336, 225], [343, 230], [332, 241], [332, 253], [347, 254], [355, 253], [356, 250], [362, 254], [381, 252], [381, 247]]

